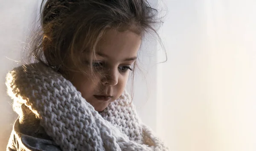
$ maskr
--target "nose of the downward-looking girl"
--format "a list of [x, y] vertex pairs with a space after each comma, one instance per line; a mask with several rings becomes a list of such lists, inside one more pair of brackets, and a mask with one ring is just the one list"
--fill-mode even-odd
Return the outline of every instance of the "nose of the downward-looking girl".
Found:
[[109, 69], [105, 74], [105, 83], [106, 85], [114, 86], [118, 83], [118, 71], [115, 69]]

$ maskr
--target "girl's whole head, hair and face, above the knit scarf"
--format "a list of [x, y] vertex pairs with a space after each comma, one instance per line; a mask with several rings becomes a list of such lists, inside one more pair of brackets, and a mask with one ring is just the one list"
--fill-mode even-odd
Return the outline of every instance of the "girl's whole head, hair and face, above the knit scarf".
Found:
[[43, 0], [31, 56], [102, 111], [124, 91], [145, 33], [156, 33], [156, 12], [146, 0]]

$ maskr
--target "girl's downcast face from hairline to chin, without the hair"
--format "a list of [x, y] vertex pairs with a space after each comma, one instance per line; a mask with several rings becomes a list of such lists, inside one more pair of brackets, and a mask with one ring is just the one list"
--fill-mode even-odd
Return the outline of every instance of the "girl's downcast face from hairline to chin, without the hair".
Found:
[[[132, 31], [108, 30], [99, 41], [93, 60], [95, 75], [73, 72], [67, 79], [96, 111], [103, 111], [120, 97], [137, 58], [141, 36]], [[84, 56], [87, 62], [87, 56]]]

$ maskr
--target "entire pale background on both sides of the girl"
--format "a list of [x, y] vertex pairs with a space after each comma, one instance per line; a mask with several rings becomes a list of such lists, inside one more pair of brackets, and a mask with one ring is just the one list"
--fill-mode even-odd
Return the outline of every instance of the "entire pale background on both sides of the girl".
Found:
[[[20, 60], [36, 0], [0, 0], [0, 151], [16, 114], [5, 76]], [[134, 103], [170, 151], [256, 150], [256, 1], [150, 0], [168, 10], [140, 54]], [[9, 59], [8, 59], [9, 58]], [[147, 84], [147, 85], [146, 85]]]

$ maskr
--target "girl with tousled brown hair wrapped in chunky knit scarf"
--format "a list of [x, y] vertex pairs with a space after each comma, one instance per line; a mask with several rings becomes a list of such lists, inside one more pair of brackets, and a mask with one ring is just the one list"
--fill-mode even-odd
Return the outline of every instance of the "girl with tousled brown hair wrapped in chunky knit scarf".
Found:
[[37, 62], [6, 77], [19, 115], [7, 150], [168, 150], [125, 91], [155, 11], [146, 0], [43, 0]]

